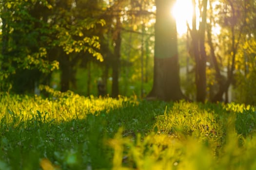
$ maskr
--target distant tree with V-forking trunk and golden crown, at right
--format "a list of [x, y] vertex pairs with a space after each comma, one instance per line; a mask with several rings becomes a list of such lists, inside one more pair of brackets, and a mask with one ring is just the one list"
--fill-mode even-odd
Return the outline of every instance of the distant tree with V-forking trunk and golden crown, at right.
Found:
[[[218, 79], [218, 90], [212, 102], [223, 101], [224, 94], [226, 94], [225, 102], [228, 102], [228, 89], [235, 81], [234, 74], [238, 63], [237, 57], [239, 49], [242, 48], [241, 43], [246, 42], [246, 36], [251, 32], [251, 30], [245, 30], [246, 22], [250, 20], [250, 14], [247, 10], [251, 5], [253, 6], [254, 2], [250, 3], [251, 4], [248, 5], [245, 1], [225, 0], [221, 1], [216, 7], [216, 11], [220, 11], [218, 14], [219, 17], [217, 17], [217, 23], [222, 29], [219, 35], [220, 49], [222, 51], [220, 55], [225, 56], [223, 60], [227, 75], [226, 79]], [[244, 51], [242, 52], [242, 56], [243, 55]], [[216, 67], [216, 71], [217, 74], [220, 75], [220, 69]]]

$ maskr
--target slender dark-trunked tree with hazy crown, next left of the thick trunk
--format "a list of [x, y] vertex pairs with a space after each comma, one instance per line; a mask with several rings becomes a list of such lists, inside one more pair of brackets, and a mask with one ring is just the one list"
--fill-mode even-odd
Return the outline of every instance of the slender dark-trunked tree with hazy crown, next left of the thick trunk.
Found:
[[[112, 97], [117, 97], [120, 94], [120, 77], [122, 74], [122, 69], [125, 69], [125, 85], [121, 87], [127, 90], [127, 82], [130, 79], [128, 77], [128, 72], [131, 70], [131, 66], [135, 66], [134, 69], [138, 70], [137, 64], [132, 63], [129, 61], [131, 58], [131, 49], [133, 49], [133, 45], [135, 46], [138, 43], [138, 35], [142, 34], [141, 30], [137, 30], [137, 28], [141, 25], [141, 18], [146, 19], [150, 15], [145, 8], [141, 8], [143, 4], [149, 3], [148, 1], [135, 1], [135, 0], [113, 0], [109, 2], [107, 5], [106, 10], [103, 13], [103, 18], [106, 20], [107, 28], [108, 28], [108, 36], [104, 36], [103, 39], [105, 41], [105, 67], [106, 67], [106, 74], [108, 69], [112, 69]], [[151, 2], [152, 3], [152, 2]], [[125, 34], [129, 34], [128, 38]], [[136, 38], [133, 39], [132, 42], [131, 34], [136, 34]], [[127, 44], [127, 39], [129, 44]], [[126, 45], [123, 45], [123, 40], [125, 41]], [[110, 43], [111, 42], [111, 43]], [[140, 42], [136, 45], [140, 45]], [[107, 47], [108, 46], [108, 47]], [[134, 50], [134, 49], [133, 49]], [[136, 57], [138, 55], [138, 49], [136, 47]], [[125, 53], [125, 54], [124, 54]], [[130, 69], [128, 68], [130, 67]], [[128, 71], [129, 70], [129, 71]], [[132, 72], [132, 71], [131, 71]], [[136, 74], [138, 75], [138, 73]], [[104, 78], [106, 80], [106, 78]], [[126, 92], [126, 91], [125, 91]]]

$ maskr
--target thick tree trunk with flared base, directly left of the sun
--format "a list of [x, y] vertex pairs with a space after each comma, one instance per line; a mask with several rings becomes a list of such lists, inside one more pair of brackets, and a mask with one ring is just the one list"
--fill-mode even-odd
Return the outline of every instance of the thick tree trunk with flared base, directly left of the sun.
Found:
[[179, 84], [176, 21], [170, 15], [174, 3], [175, 0], [156, 0], [154, 83], [148, 98], [164, 101], [184, 98]]

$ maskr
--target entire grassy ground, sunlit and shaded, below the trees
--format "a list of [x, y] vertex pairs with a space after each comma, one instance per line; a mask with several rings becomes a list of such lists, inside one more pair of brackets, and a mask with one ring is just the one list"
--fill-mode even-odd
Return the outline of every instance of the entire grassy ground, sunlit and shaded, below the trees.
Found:
[[0, 94], [0, 170], [255, 170], [243, 104]]

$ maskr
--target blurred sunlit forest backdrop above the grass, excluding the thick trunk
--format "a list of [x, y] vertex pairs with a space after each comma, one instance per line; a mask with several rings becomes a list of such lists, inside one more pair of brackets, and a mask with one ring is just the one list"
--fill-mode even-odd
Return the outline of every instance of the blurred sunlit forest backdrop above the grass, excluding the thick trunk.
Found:
[[146, 97], [161, 3], [176, 21], [161, 18], [167, 33], [177, 28], [182, 94], [255, 104], [255, 0], [1, 0], [0, 91]]

